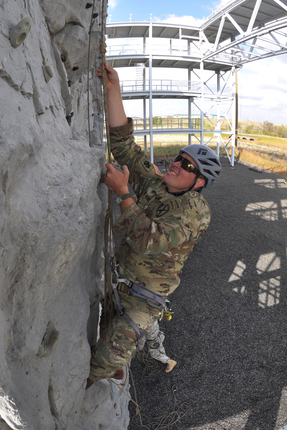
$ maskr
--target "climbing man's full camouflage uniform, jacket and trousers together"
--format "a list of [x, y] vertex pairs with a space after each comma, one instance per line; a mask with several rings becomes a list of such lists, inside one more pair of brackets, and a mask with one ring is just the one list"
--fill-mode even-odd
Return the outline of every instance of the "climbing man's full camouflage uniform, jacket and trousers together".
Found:
[[[179, 285], [183, 263], [208, 227], [209, 206], [196, 191], [180, 197], [167, 192], [160, 171], [134, 141], [131, 119], [110, 129], [110, 138], [113, 156], [127, 165], [137, 197], [114, 224], [123, 238], [117, 253], [120, 276], [167, 296]], [[144, 298], [129, 295], [125, 284], [119, 284], [118, 291], [127, 316], [145, 331], [163, 312], [163, 307], [156, 309]], [[126, 320], [113, 311], [108, 321], [92, 349], [93, 381], [113, 375], [136, 352], [136, 333]]]

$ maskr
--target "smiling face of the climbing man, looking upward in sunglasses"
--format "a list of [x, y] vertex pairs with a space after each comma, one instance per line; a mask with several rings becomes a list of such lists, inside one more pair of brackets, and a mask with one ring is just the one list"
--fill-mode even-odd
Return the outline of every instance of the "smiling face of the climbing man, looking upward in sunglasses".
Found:
[[[183, 153], [180, 155], [183, 158], [191, 161], [191, 163], [193, 163], [196, 168], [198, 167], [197, 163], [195, 163], [193, 158], [191, 158], [188, 154]], [[180, 163], [181, 161], [171, 163], [169, 171], [163, 175], [164, 183], [167, 185], [167, 189], [171, 193], [178, 193], [180, 191], [188, 190], [196, 178], [195, 173], [188, 173], [185, 169], [182, 169]]]

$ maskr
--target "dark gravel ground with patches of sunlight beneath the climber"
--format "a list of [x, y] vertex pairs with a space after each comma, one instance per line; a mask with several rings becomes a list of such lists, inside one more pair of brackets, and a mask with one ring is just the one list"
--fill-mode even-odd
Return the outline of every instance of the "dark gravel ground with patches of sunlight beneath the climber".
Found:
[[[142, 363], [131, 362], [142, 414], [172, 412], [173, 386], [176, 409], [189, 403], [166, 428], [278, 430], [287, 424], [284, 179], [243, 163], [231, 169], [223, 158], [219, 181], [204, 190], [210, 227], [169, 297], [173, 318], [160, 322], [166, 353], [177, 365], [144, 378]], [[130, 393], [134, 398], [133, 388]], [[138, 429], [132, 402], [129, 409], [128, 429]]]

